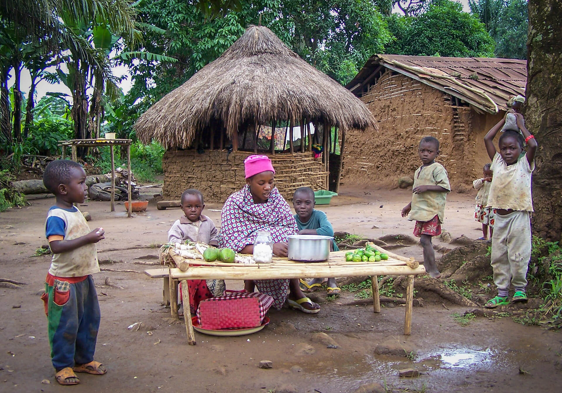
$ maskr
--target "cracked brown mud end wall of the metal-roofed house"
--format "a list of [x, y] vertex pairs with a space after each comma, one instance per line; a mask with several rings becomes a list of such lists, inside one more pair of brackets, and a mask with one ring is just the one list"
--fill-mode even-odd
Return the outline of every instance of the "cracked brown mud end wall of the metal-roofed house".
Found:
[[378, 121], [379, 132], [352, 130], [346, 136], [343, 179], [395, 181], [421, 164], [418, 145], [424, 136], [441, 143], [437, 161], [456, 175], [452, 129], [454, 113], [442, 92], [402, 74], [385, 72], [361, 100]]

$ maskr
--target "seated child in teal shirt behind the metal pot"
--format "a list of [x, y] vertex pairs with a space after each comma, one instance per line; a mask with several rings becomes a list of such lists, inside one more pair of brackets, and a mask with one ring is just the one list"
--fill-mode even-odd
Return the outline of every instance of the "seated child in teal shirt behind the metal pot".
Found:
[[[294, 191], [293, 208], [294, 219], [297, 221], [299, 235], [322, 235], [334, 236], [332, 224], [328, 221], [328, 217], [324, 212], [314, 209], [314, 191], [310, 187], [301, 187]], [[332, 240], [330, 251], [339, 251], [336, 241]], [[306, 282], [301, 278], [303, 292], [314, 292], [318, 289], [323, 278], [314, 278], [310, 282]], [[328, 295], [338, 295], [339, 289], [336, 278], [328, 278]]]

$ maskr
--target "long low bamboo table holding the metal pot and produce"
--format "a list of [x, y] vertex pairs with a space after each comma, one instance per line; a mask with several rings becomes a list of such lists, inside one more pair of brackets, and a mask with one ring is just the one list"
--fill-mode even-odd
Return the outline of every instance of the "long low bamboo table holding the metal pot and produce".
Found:
[[[407, 276], [406, 286], [406, 316], [404, 319], [404, 334], [411, 333], [412, 303], [414, 298], [414, 276], [425, 273], [423, 266], [419, 266], [414, 258], [387, 252], [375, 246], [381, 252], [388, 254], [386, 261], [380, 262], [345, 262], [345, 251], [330, 253], [326, 262], [303, 263], [289, 261], [287, 258], [274, 257], [273, 263], [222, 263], [205, 262], [200, 259], [186, 259], [170, 250], [165, 257], [170, 267], [170, 308], [173, 318], [178, 316], [178, 282], [182, 282], [183, 317], [189, 345], [195, 345], [195, 335], [189, 311], [189, 287], [187, 280], [271, 280], [272, 278], [323, 278], [323, 277], [356, 277], [371, 276], [373, 286], [373, 312], [380, 312], [379, 287], [377, 276]], [[200, 266], [191, 266], [197, 264]], [[414, 267], [410, 267], [410, 266]], [[173, 266], [176, 266], [175, 268]]]

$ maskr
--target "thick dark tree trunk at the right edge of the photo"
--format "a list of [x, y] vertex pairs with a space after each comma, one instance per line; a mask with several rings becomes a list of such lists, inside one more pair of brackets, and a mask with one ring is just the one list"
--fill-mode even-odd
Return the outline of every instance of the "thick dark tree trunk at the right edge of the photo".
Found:
[[562, 241], [562, 0], [529, 0], [525, 121], [537, 138], [533, 232]]

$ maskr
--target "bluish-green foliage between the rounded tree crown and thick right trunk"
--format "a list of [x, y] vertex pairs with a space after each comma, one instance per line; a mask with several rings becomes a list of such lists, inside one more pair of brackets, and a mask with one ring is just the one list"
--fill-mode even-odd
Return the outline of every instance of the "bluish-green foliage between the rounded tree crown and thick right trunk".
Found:
[[527, 58], [528, 0], [469, 0], [469, 6], [495, 40], [496, 57]]

